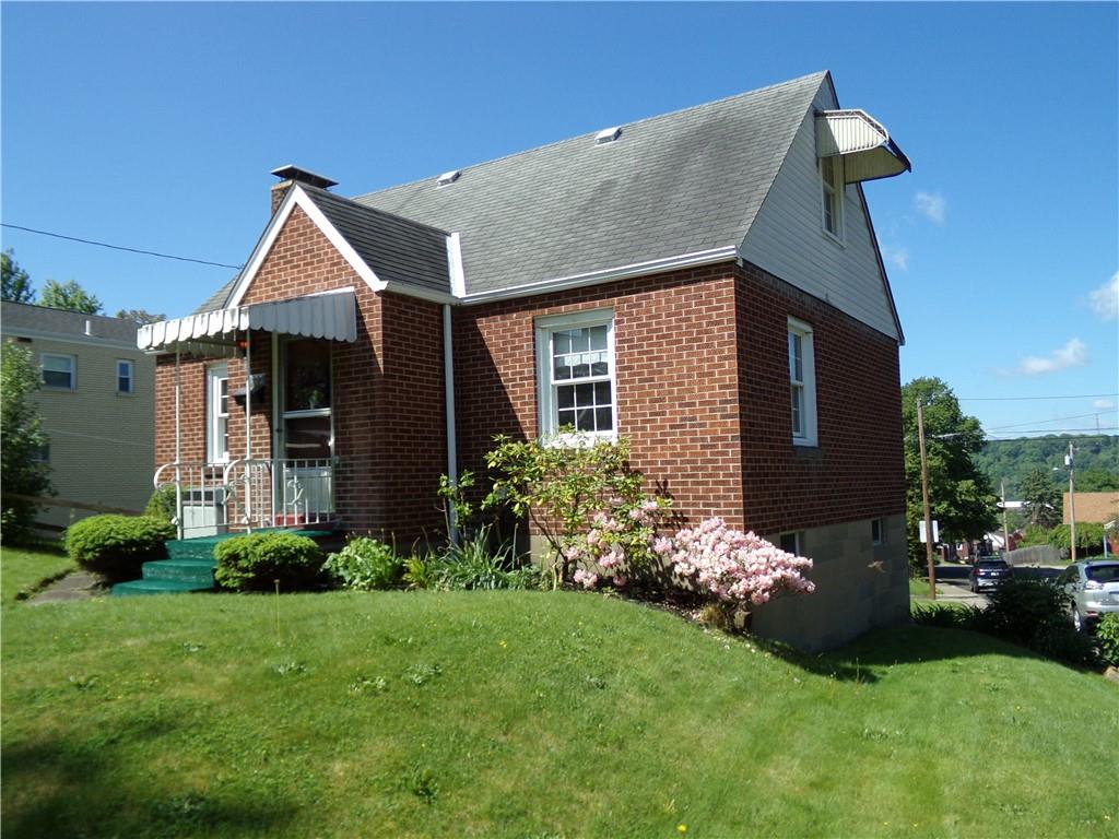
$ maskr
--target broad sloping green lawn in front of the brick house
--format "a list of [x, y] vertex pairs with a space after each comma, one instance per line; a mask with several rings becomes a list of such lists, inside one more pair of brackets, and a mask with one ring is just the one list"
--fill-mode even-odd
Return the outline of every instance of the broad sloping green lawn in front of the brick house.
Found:
[[963, 631], [798, 657], [599, 595], [506, 592], [3, 618], [3, 837], [1119, 826], [1117, 686]]

